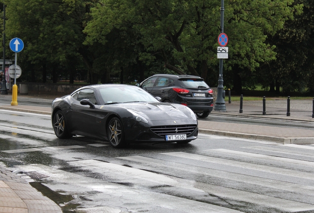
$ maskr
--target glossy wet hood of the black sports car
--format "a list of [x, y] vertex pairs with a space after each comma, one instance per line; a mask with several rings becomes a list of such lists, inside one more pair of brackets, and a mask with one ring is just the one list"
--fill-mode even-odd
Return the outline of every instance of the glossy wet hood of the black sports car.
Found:
[[165, 119], [188, 119], [191, 118], [191, 112], [187, 106], [171, 103], [126, 103], [119, 104], [126, 109], [136, 111], [138, 114], [145, 114], [146, 118], [154, 120]]

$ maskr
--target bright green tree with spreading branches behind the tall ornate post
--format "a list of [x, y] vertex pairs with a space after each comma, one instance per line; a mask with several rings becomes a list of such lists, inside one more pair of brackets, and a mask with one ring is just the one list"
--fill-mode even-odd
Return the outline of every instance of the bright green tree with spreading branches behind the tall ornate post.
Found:
[[[226, 69], [255, 71], [260, 62], [275, 59], [274, 35], [291, 19], [293, 0], [226, 0], [225, 33], [230, 43]], [[134, 31], [144, 49], [139, 59], [150, 64], [163, 59], [167, 69], [204, 78], [216, 69], [220, 34], [220, 1], [208, 0], [102, 0], [92, 9], [85, 28], [86, 43], [108, 42], [115, 29]]]

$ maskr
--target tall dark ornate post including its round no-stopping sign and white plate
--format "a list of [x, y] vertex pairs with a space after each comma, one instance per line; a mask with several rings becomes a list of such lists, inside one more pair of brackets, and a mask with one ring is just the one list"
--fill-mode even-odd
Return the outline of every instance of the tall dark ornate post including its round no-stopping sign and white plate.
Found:
[[226, 111], [225, 100], [223, 98], [224, 79], [223, 79], [223, 59], [228, 58], [228, 36], [224, 33], [224, 0], [221, 0], [220, 7], [220, 29], [221, 34], [218, 36], [218, 43], [220, 47], [217, 48], [217, 58], [219, 59], [219, 78], [217, 86], [217, 99], [214, 106], [215, 111]]

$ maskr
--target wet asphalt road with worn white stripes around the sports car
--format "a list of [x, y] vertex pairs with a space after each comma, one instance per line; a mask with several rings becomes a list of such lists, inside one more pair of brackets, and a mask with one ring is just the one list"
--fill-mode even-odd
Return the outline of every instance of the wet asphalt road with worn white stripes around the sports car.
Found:
[[[180, 145], [57, 139], [50, 116], [0, 110], [0, 164], [64, 212], [313, 212], [314, 145], [200, 134]], [[209, 118], [211, 119], [211, 118]], [[24, 178], [29, 178], [25, 176]]]

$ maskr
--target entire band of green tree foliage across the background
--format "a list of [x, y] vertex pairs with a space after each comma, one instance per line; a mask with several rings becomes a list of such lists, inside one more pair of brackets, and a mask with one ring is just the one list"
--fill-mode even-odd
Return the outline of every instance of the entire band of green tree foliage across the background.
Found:
[[[24, 41], [19, 60], [38, 75], [45, 65], [50, 72], [64, 70], [70, 75], [88, 70], [94, 83], [97, 75], [107, 82], [110, 74], [131, 82], [158, 72], [195, 74], [211, 86], [217, 83], [219, 0], [10, 0], [6, 4], [6, 36]], [[309, 85], [314, 92], [309, 60], [313, 4], [225, 0], [223, 30], [229, 36], [225, 85], [236, 88], [239, 82], [238, 88], [252, 89], [260, 82], [268, 88], [277, 79], [286, 91]]]

